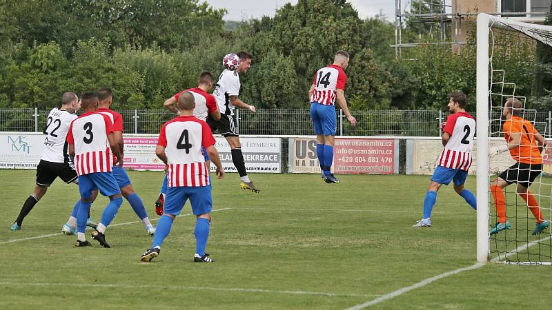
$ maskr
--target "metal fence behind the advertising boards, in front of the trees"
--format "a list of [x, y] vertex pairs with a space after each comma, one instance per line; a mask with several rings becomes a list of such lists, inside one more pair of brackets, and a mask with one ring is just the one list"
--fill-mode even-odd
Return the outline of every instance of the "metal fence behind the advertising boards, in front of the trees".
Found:
[[[41, 132], [46, 125], [49, 110], [0, 109], [0, 131]], [[168, 110], [117, 111], [124, 118], [126, 133], [157, 134], [166, 121], [175, 117]], [[438, 110], [351, 111], [358, 125], [351, 126], [342, 110], [337, 110], [337, 135], [339, 136], [440, 136], [439, 124], [446, 120], [448, 112]], [[529, 115], [528, 115], [529, 116]], [[552, 137], [552, 112], [533, 112], [529, 117], [537, 123], [538, 130]], [[491, 116], [500, 119], [500, 114]], [[313, 125], [308, 110], [249, 110], [237, 112], [240, 134], [309, 135]], [[496, 122], [500, 127], [500, 122]], [[500, 132], [500, 129], [491, 132]]]

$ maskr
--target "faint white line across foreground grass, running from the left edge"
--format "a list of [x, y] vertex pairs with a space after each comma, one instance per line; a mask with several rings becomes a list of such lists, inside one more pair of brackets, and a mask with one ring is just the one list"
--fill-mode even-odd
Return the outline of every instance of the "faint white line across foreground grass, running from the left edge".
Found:
[[121, 289], [173, 289], [185, 290], [195, 289], [198, 291], [238, 291], [246, 293], [280, 293], [291, 295], [315, 295], [328, 297], [375, 297], [378, 295], [351, 294], [351, 293], [326, 293], [319, 291], [275, 291], [272, 289], [244, 289], [244, 288], [225, 288], [225, 287], [180, 287], [180, 286], [164, 286], [164, 285], [119, 285], [119, 284], [93, 284], [93, 283], [21, 283], [21, 282], [0, 282], [0, 285], [13, 286], [29, 286], [29, 287], [117, 287]]

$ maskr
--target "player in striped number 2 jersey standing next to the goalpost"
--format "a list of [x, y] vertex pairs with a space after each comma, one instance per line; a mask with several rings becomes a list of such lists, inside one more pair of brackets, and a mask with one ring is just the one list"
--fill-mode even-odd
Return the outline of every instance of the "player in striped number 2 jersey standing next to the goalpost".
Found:
[[462, 196], [473, 209], [477, 208], [477, 200], [472, 192], [464, 189], [464, 183], [471, 166], [473, 136], [475, 135], [475, 119], [466, 112], [466, 95], [462, 92], [452, 92], [449, 95], [449, 115], [443, 128], [443, 151], [437, 161], [435, 172], [424, 199], [424, 215], [413, 227], [430, 227], [431, 211], [437, 191], [441, 186], [454, 183], [455, 192]]

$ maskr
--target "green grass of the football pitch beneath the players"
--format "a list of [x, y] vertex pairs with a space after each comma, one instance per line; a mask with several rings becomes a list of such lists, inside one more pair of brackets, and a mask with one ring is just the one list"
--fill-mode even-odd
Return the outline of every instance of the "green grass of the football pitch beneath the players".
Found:
[[[163, 174], [129, 176], [158, 218]], [[112, 249], [89, 232], [88, 248], [61, 234], [0, 243], [0, 309], [345, 309], [475, 263], [475, 211], [451, 187], [440, 190], [433, 226], [411, 228], [428, 176], [340, 176], [339, 185], [316, 174], [251, 178], [261, 193], [239, 189], [237, 174], [213, 178], [213, 209], [230, 208], [213, 212], [207, 252], [217, 262], [193, 262], [189, 215], [175, 220], [151, 263], [139, 262], [152, 240], [142, 223], [108, 227]], [[0, 170], [0, 242], [56, 234], [66, 222], [78, 190], [56, 180], [22, 230], [9, 231], [33, 184], [32, 170]], [[466, 187], [475, 189], [473, 176]], [[92, 205], [92, 218], [106, 203]], [[137, 220], [125, 200], [112, 225]], [[487, 264], [371, 309], [546, 309], [550, 268]]]

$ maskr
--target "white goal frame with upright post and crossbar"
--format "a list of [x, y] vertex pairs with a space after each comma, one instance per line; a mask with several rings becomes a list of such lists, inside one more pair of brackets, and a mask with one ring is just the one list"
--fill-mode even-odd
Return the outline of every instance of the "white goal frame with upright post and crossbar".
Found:
[[[491, 57], [489, 33], [491, 27], [509, 28], [552, 46], [552, 26], [523, 23], [489, 14], [477, 15], [477, 261], [489, 261], [489, 103]], [[491, 43], [493, 44], [493, 43]], [[491, 50], [492, 54], [493, 50]], [[524, 94], [528, 96], [529, 94]]]

